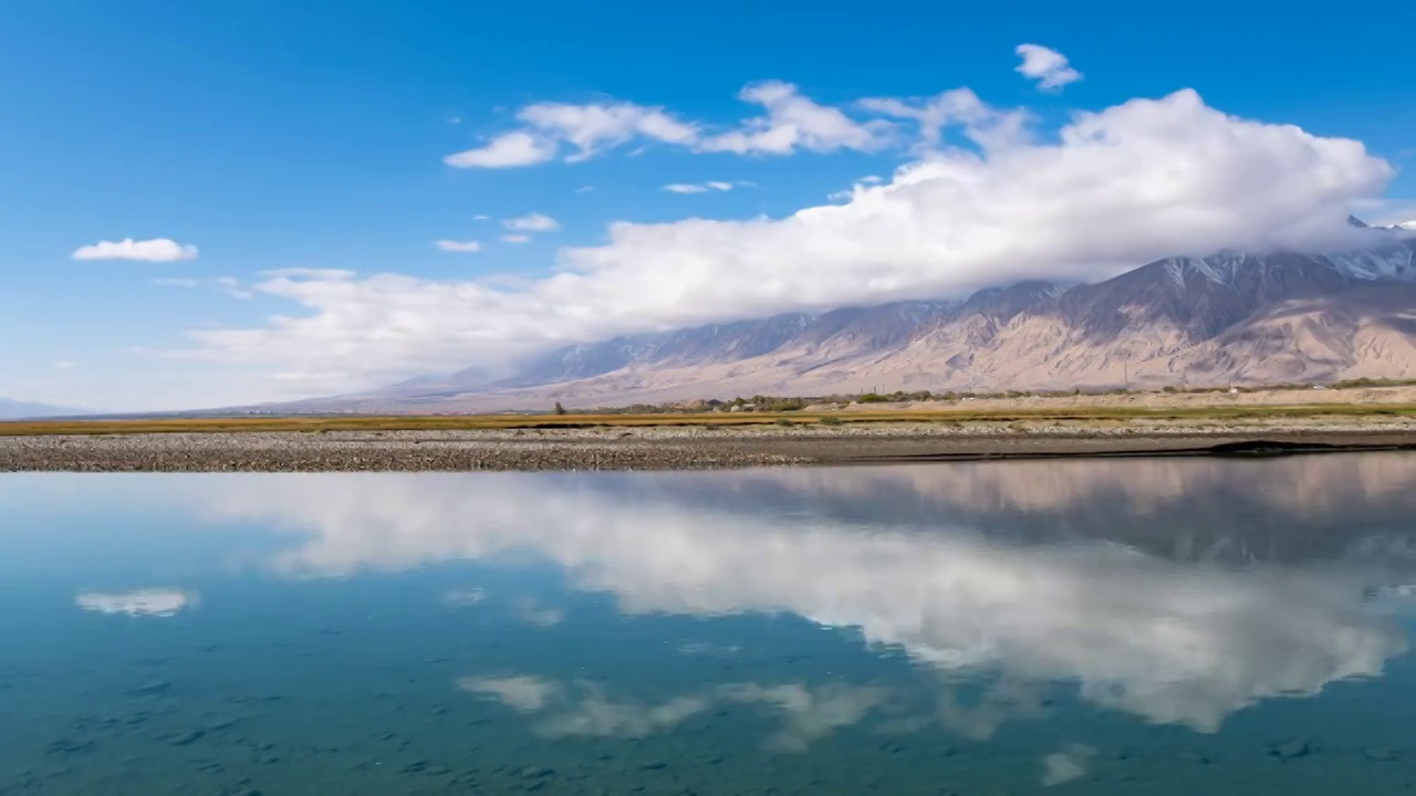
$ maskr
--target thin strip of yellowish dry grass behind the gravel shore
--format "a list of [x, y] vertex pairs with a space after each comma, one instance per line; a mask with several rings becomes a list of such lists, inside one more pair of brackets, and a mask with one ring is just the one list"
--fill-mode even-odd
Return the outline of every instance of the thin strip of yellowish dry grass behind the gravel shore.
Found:
[[[1134, 421], [1262, 418], [1410, 416], [1416, 404], [1233, 405], [1184, 408], [1028, 408], [939, 409], [901, 412], [741, 412], [697, 415], [438, 415], [438, 416], [290, 416], [290, 418], [163, 418], [135, 421], [11, 421], [0, 422], [0, 436], [93, 433], [215, 433], [215, 432], [334, 432], [334, 431], [477, 431], [590, 426], [769, 426], [881, 422], [998, 422], [1018, 421]], [[786, 421], [783, 423], [782, 421]]]

